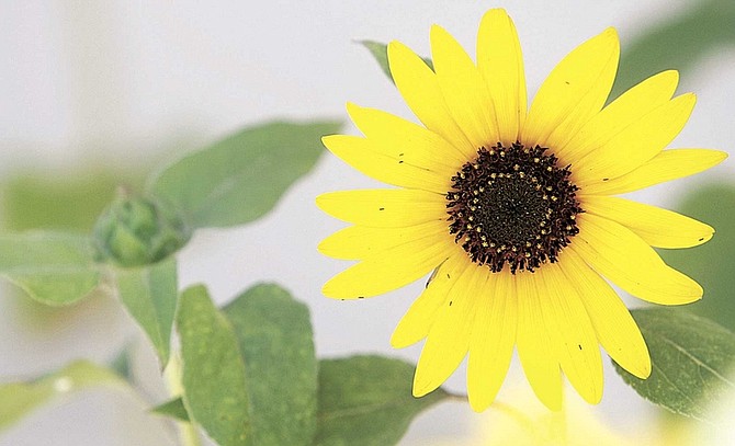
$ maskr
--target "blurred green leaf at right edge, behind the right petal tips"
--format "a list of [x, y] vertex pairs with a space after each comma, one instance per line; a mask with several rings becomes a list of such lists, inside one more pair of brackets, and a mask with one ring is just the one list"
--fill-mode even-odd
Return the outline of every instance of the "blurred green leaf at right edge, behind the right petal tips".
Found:
[[735, 332], [735, 185], [711, 184], [687, 194], [677, 209], [715, 229], [712, 240], [690, 250], [660, 250], [672, 267], [704, 288], [702, 300], [683, 308]]

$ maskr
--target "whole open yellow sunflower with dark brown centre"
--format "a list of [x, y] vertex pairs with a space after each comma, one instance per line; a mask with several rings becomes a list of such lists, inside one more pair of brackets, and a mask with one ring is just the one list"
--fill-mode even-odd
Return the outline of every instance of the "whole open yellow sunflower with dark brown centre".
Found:
[[726, 158], [664, 150], [696, 101], [692, 93], [672, 98], [678, 73], [653, 76], [604, 106], [620, 56], [608, 28], [554, 68], [527, 111], [518, 35], [500, 9], [482, 20], [476, 64], [437, 25], [433, 69], [398, 42], [387, 52], [396, 87], [423, 125], [348, 104], [364, 137], [324, 138], [335, 156], [397, 187], [317, 197], [324, 211], [352, 224], [319, 251], [359, 261], [323, 293], [370, 297], [433, 272], [391, 340], [405, 347], [426, 339], [416, 397], [467, 356], [468, 400], [482, 411], [514, 347], [551, 409], [562, 404], [562, 373], [586, 401], [600, 401], [600, 345], [631, 374], [648, 377], [646, 344], [608, 281], [648, 302], [700, 299], [699, 284], [653, 247], [694, 247], [714, 230], [615, 195]]

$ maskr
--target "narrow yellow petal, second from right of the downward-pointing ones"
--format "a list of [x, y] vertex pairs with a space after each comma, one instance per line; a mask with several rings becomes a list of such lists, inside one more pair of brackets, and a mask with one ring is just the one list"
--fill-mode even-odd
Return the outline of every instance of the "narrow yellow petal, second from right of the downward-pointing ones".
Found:
[[602, 358], [587, 311], [557, 263], [543, 265], [536, 274], [544, 323], [562, 370], [585, 401], [597, 404], [602, 399]]

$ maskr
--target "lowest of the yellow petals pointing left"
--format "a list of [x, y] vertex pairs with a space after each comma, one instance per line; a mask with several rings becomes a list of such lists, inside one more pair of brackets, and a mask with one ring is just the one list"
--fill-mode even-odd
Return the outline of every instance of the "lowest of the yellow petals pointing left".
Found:
[[327, 297], [355, 299], [408, 285], [428, 274], [454, 252], [453, 240], [444, 236], [446, 240], [442, 241], [439, 237], [432, 235], [381, 249], [377, 254], [365, 258], [329, 279], [321, 293]]

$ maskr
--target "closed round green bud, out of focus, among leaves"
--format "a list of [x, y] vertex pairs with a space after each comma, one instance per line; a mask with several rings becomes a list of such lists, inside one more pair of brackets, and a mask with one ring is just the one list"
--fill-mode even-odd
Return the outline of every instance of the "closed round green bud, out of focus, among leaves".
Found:
[[120, 266], [156, 263], [191, 238], [181, 217], [152, 199], [121, 192], [94, 225], [99, 260]]

